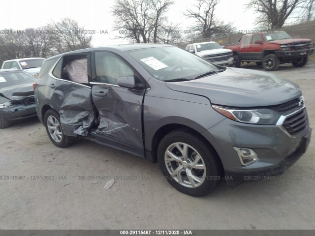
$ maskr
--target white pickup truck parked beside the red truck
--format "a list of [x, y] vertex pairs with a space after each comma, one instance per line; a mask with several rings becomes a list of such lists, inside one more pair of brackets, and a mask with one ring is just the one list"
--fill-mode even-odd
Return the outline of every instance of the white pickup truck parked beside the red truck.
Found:
[[233, 52], [222, 48], [217, 42], [192, 43], [186, 50], [216, 65], [233, 65]]

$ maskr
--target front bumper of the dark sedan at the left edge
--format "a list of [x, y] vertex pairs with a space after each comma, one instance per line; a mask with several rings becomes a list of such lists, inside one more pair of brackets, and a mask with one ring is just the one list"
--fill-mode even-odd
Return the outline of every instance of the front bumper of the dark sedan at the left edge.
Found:
[[0, 115], [8, 121], [36, 116], [35, 104], [28, 106], [14, 106], [0, 109]]

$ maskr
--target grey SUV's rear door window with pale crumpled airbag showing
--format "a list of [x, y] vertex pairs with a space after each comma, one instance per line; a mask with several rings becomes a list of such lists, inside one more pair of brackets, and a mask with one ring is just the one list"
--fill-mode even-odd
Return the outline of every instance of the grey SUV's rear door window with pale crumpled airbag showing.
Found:
[[88, 58], [86, 55], [64, 56], [52, 73], [59, 79], [88, 84]]

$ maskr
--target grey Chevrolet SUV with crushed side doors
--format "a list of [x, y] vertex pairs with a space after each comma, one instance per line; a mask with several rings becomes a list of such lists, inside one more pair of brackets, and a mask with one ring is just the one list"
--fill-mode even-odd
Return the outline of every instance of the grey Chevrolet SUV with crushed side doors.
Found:
[[38, 77], [36, 112], [54, 145], [77, 136], [158, 162], [192, 196], [282, 174], [311, 138], [298, 85], [170, 45], [64, 53]]

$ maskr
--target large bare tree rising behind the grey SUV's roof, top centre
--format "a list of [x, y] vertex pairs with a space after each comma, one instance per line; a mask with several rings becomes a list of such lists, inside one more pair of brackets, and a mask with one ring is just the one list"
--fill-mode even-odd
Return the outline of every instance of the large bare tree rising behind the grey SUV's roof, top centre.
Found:
[[120, 35], [136, 43], [158, 42], [158, 30], [167, 18], [172, 0], [117, 0], [112, 7], [115, 27]]

